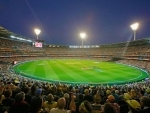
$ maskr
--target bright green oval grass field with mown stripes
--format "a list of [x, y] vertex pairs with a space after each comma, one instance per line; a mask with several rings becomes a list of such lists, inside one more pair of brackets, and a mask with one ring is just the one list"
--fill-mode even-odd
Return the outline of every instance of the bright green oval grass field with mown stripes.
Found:
[[37, 60], [17, 64], [14, 70], [34, 79], [77, 84], [122, 84], [148, 76], [135, 67], [94, 60]]

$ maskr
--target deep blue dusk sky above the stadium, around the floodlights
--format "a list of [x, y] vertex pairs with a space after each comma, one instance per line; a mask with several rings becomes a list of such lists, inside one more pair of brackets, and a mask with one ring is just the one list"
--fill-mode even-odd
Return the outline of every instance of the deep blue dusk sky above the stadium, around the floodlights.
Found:
[[150, 37], [150, 0], [0, 0], [0, 26], [46, 44], [111, 44]]

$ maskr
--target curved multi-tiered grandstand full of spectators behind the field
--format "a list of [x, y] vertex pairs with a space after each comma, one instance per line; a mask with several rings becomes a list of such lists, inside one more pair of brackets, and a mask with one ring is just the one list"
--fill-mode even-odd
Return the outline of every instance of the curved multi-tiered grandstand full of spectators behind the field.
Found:
[[[14, 63], [38, 59], [88, 59], [118, 62], [150, 71], [150, 38], [141, 40], [72, 48], [69, 45], [33, 46], [33, 40], [12, 33], [0, 26], [0, 70], [9, 71]], [[71, 73], [70, 73], [71, 74]], [[143, 79], [143, 78], [142, 78]], [[132, 81], [133, 82], [133, 81]]]

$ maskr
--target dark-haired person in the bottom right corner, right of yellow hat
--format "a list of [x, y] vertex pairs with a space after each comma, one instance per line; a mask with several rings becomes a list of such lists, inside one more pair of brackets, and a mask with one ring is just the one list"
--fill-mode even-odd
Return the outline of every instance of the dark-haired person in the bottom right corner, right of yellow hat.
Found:
[[140, 98], [140, 104], [141, 107], [143, 108], [140, 113], [150, 113], [150, 98], [146, 96], [142, 96]]

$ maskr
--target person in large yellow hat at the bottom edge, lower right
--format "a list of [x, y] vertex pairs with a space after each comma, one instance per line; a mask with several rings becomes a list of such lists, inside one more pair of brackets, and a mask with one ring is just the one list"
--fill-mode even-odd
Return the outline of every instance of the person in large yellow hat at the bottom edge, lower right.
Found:
[[127, 103], [129, 105], [129, 113], [139, 113], [141, 110], [141, 105], [136, 100], [127, 100]]

